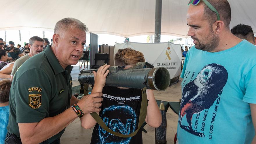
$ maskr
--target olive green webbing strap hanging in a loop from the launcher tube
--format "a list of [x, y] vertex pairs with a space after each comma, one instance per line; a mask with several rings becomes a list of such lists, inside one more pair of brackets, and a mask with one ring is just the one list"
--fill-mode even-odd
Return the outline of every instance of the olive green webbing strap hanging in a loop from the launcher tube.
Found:
[[136, 129], [133, 133], [131, 134], [120, 134], [118, 132], [112, 131], [111, 129], [109, 129], [108, 126], [106, 126], [106, 124], [103, 122], [103, 120], [99, 117], [99, 115], [96, 112], [90, 113], [92, 115], [92, 117], [96, 120], [96, 122], [107, 132], [115, 135], [115, 136], [119, 136], [122, 138], [129, 138], [132, 136], [135, 136], [138, 132], [138, 130], [141, 128], [141, 126], [143, 125], [143, 123], [145, 122], [146, 119], [146, 115], [147, 115], [147, 88], [143, 88], [141, 93], [142, 93], [142, 99], [141, 99], [141, 110], [140, 110], [140, 116], [139, 116], [139, 122], [138, 122], [138, 129]]

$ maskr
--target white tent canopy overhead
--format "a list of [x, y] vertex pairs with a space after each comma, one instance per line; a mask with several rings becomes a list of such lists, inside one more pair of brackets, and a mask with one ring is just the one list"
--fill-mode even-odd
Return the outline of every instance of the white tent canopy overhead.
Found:
[[[163, 0], [162, 35], [186, 37], [189, 0]], [[228, 0], [232, 10], [230, 26], [243, 23], [256, 34], [255, 0]], [[122, 37], [152, 35], [155, 0], [1, 0], [0, 30], [42, 29], [53, 31], [56, 22], [74, 17], [90, 32]]]

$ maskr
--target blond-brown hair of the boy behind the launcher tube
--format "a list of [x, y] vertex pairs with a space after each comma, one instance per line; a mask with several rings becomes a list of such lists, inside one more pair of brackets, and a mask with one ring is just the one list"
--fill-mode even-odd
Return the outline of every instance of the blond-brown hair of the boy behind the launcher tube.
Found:
[[144, 55], [131, 48], [119, 49], [114, 57], [115, 66], [135, 65], [138, 62], [145, 62]]

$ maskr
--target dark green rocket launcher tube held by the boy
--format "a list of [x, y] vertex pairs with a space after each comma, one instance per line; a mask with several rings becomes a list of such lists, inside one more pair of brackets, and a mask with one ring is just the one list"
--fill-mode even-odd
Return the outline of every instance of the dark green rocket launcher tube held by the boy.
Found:
[[[144, 66], [143, 66], [144, 65]], [[145, 67], [145, 68], [143, 68]], [[147, 68], [147, 63], [137, 63], [135, 67], [109, 67], [106, 77], [106, 86], [139, 88], [164, 91], [170, 84], [170, 74], [164, 67]], [[94, 84], [93, 71], [98, 69], [81, 70], [78, 81], [80, 83]]]

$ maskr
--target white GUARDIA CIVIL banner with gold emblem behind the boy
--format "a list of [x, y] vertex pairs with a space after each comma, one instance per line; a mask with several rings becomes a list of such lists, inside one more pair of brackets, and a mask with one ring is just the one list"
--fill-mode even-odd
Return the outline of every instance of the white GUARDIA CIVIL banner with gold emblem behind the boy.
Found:
[[137, 43], [125, 42], [122, 44], [116, 43], [114, 54], [118, 49], [131, 48], [141, 51], [144, 54], [145, 60], [154, 65], [154, 67], [165, 67], [171, 79], [177, 77], [181, 73], [181, 48], [180, 45], [171, 42], [163, 43]]

